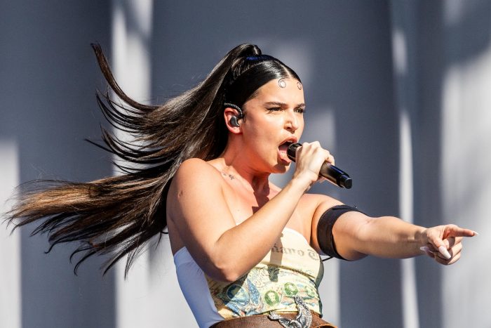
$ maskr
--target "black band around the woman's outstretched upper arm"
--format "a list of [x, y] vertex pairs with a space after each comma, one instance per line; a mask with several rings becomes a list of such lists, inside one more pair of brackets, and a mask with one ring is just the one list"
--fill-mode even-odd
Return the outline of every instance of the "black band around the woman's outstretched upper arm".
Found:
[[[336, 223], [339, 216], [345, 214], [349, 211], [361, 212], [356, 207], [348, 206], [348, 205], [337, 205], [332, 206], [330, 209], [322, 214], [321, 218], [317, 224], [317, 242], [321, 251], [330, 258], [340, 258], [342, 260], [346, 260], [336, 251], [336, 244], [334, 242], [334, 237], [332, 236], [332, 227]], [[363, 212], [361, 212], [363, 213]]]

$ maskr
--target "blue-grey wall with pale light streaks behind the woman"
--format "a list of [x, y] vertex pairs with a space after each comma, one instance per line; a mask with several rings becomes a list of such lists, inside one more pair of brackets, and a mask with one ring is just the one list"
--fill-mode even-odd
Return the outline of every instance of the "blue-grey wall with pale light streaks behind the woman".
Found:
[[[140, 30], [141, 6], [152, 13], [149, 34]], [[328, 321], [491, 327], [484, 243], [491, 232], [491, 1], [0, 1], [0, 146], [13, 149], [0, 152], [0, 161], [18, 163], [17, 181], [12, 171], [0, 173], [1, 195], [39, 177], [112, 174], [111, 159], [83, 138], [97, 140], [103, 122], [94, 92], [105, 84], [89, 44], [99, 41], [117, 62], [116, 9], [124, 35], [141, 39], [149, 63], [144, 94], [125, 81], [130, 67], [116, 67], [136, 100], [156, 103], [184, 91], [230, 48], [252, 42], [300, 75], [303, 139], [320, 140], [354, 178], [351, 190], [323, 184], [314, 192], [372, 216], [480, 232], [449, 267], [423, 256], [325, 262]], [[46, 237], [29, 237], [27, 228], [13, 242], [1, 227], [20, 267], [0, 253], [0, 327], [196, 327], [166, 241], [126, 281], [121, 267], [102, 277], [99, 259], [76, 277], [71, 247], [45, 255]], [[7, 280], [11, 272], [19, 279]], [[18, 297], [4, 292], [9, 284], [18, 284]], [[13, 313], [18, 320], [8, 321]]]

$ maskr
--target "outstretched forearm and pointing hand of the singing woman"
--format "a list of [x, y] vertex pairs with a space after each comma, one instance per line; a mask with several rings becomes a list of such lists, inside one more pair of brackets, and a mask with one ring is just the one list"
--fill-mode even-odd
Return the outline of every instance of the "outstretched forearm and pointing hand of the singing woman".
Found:
[[452, 224], [424, 228], [394, 216], [370, 218], [349, 211], [339, 216], [332, 235], [337, 252], [348, 260], [367, 255], [409, 258], [427, 253], [438, 263], [448, 265], [459, 259], [462, 237], [475, 236], [476, 232]]

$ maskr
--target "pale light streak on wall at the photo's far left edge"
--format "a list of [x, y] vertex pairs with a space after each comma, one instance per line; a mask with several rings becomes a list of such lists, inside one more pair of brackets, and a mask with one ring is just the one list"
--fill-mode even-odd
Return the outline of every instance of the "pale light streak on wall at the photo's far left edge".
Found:
[[[0, 213], [8, 211], [6, 202], [19, 184], [18, 146], [14, 141], [0, 140]], [[0, 217], [0, 223], [3, 218]], [[0, 327], [21, 327], [20, 302], [20, 232], [10, 235], [12, 226], [0, 225]]]

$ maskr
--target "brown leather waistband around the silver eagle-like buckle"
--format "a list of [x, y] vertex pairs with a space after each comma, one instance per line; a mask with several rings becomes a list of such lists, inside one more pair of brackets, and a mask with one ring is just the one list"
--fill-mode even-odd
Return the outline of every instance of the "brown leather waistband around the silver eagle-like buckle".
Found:
[[[330, 324], [327, 321], [324, 321], [319, 317], [317, 313], [314, 311], [310, 311], [312, 313], [312, 324], [311, 328], [317, 327], [331, 327], [337, 328], [336, 326]], [[289, 320], [295, 319], [297, 317], [297, 313], [278, 313], [282, 317], [285, 317]], [[234, 317], [229, 320], [223, 320], [213, 324], [210, 328], [255, 328], [255, 327], [264, 327], [264, 328], [274, 328], [274, 327], [283, 327], [278, 321], [269, 320], [268, 315], [248, 315], [247, 317]]]

